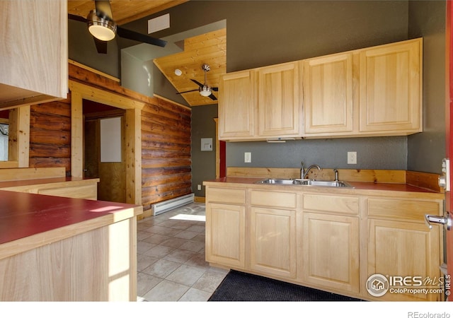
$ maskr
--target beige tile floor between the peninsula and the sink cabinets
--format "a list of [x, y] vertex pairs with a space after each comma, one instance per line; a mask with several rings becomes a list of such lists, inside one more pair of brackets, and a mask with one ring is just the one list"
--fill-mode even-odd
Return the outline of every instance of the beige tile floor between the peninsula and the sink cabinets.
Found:
[[205, 204], [139, 220], [137, 270], [138, 300], [207, 301], [228, 271], [205, 261]]

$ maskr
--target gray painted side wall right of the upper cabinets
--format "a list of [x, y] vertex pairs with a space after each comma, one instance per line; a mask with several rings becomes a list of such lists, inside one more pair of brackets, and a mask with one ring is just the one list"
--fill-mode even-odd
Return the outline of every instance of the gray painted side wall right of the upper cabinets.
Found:
[[423, 134], [408, 136], [408, 170], [441, 173], [445, 158], [445, 1], [409, 2], [409, 37], [423, 36]]

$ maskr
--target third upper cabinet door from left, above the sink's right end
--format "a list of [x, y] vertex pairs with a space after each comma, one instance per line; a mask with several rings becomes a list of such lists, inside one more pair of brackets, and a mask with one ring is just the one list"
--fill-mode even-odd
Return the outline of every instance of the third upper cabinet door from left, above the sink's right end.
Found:
[[352, 53], [307, 59], [303, 65], [305, 134], [351, 132]]

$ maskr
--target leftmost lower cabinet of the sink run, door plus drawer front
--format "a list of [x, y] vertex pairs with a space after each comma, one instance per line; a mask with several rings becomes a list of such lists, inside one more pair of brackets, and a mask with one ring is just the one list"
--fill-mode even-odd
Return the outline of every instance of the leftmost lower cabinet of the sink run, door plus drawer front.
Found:
[[245, 190], [207, 188], [206, 196], [206, 260], [244, 269]]

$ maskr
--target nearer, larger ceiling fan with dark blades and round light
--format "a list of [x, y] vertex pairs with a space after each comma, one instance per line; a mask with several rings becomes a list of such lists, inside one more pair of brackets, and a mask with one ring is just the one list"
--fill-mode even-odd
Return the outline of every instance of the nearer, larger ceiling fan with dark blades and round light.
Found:
[[110, 8], [110, 1], [108, 0], [95, 0], [95, 9], [88, 13], [86, 18], [68, 14], [71, 20], [81, 21], [88, 24], [88, 31], [93, 35], [94, 42], [98, 53], [107, 53], [107, 42], [113, 40], [115, 35], [124, 37], [126, 39], [135, 40], [139, 42], [165, 47], [166, 41], [149, 37], [142, 33], [134, 32], [117, 26], [113, 20], [112, 9]]

